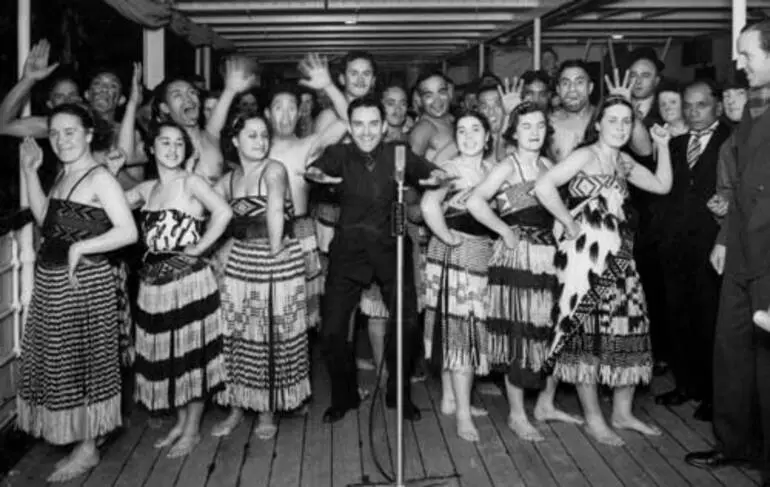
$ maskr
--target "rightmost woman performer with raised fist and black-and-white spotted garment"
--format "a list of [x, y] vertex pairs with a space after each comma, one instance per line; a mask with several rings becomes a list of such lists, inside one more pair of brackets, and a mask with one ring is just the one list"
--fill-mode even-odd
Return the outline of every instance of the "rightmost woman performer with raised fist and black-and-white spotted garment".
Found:
[[[600, 443], [623, 440], [605, 422], [597, 383], [615, 389], [612, 426], [645, 435], [660, 430], [633, 415], [637, 384], [652, 377], [650, 327], [633, 259], [633, 231], [625, 202], [628, 183], [651, 193], [671, 189], [670, 134], [655, 126], [655, 174], [620, 149], [634, 123], [631, 103], [609, 96], [589, 126], [588, 145], [543, 175], [535, 194], [556, 220], [556, 334], [547, 367], [557, 380], [577, 384], [587, 430]], [[559, 195], [568, 184], [572, 209]], [[563, 231], [561, 230], [563, 226]]]

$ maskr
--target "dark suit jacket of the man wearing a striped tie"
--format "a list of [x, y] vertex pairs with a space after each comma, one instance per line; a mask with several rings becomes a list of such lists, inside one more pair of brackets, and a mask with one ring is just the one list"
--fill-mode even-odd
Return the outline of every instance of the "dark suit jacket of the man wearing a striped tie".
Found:
[[655, 211], [655, 229], [660, 232], [664, 248], [697, 250], [708, 256], [719, 224], [706, 203], [716, 192], [719, 149], [730, 133], [730, 128], [720, 122], [692, 169], [687, 163], [690, 134], [671, 140], [673, 184], [671, 191], [656, 202]]

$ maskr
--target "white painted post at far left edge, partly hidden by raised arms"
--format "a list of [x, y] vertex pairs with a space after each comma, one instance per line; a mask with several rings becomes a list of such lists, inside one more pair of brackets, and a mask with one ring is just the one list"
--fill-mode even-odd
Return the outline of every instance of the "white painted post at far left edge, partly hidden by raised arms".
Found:
[[[16, 32], [16, 52], [19, 77], [24, 72], [24, 62], [27, 60], [31, 46], [31, 19], [32, 9], [31, 0], [18, 0], [18, 19]], [[29, 102], [24, 106], [22, 115], [30, 114]], [[21, 208], [29, 207], [29, 198], [27, 197], [26, 178], [19, 174], [19, 195]], [[32, 234], [33, 225], [30, 223], [19, 230], [15, 235], [18, 242], [19, 260], [21, 264], [21, 273], [19, 275], [19, 288], [14, 289], [21, 301], [14, 296], [14, 304], [17, 306], [16, 317], [14, 318], [14, 343], [13, 349], [17, 355], [21, 353], [21, 333], [23, 323], [26, 321], [29, 303], [32, 300], [32, 285], [35, 282], [35, 245]], [[16, 249], [14, 249], [16, 250]]]

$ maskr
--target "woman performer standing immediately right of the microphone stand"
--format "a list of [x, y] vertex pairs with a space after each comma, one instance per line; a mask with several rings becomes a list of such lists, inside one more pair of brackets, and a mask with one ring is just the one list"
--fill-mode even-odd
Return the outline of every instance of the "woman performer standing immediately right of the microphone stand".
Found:
[[471, 416], [486, 411], [471, 408], [471, 387], [474, 373], [489, 370], [484, 320], [492, 238], [468, 215], [465, 200], [494, 165], [487, 159], [489, 122], [476, 112], [461, 115], [455, 142], [460, 154], [440, 166], [457, 177], [452, 192], [447, 187], [426, 191], [421, 204], [433, 233], [425, 269], [425, 351], [441, 366], [441, 412], [456, 414], [460, 438], [478, 441]]

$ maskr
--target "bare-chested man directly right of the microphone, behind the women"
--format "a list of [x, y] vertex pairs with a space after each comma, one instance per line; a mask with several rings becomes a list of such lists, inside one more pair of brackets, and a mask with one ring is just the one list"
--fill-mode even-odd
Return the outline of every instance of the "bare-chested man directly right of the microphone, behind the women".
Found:
[[449, 113], [449, 82], [443, 74], [431, 73], [417, 80], [417, 92], [423, 115], [409, 134], [409, 145], [434, 164], [448, 161], [458, 153]]

